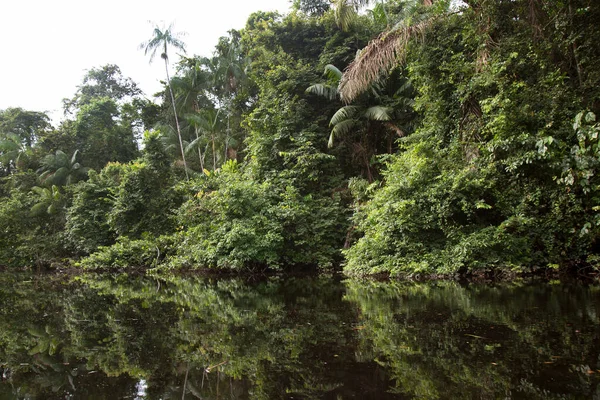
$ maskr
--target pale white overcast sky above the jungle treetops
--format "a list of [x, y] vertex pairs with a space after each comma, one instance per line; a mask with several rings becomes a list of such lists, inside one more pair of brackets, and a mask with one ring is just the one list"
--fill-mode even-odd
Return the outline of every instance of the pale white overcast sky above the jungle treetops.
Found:
[[[116, 64], [147, 97], [160, 90], [164, 64], [139, 49], [149, 21], [173, 22], [188, 55], [210, 56], [220, 36], [258, 10], [289, 11], [289, 0], [3, 0], [0, 12], [0, 110], [47, 112], [56, 123], [86, 70]], [[177, 57], [169, 54], [174, 61]]]

